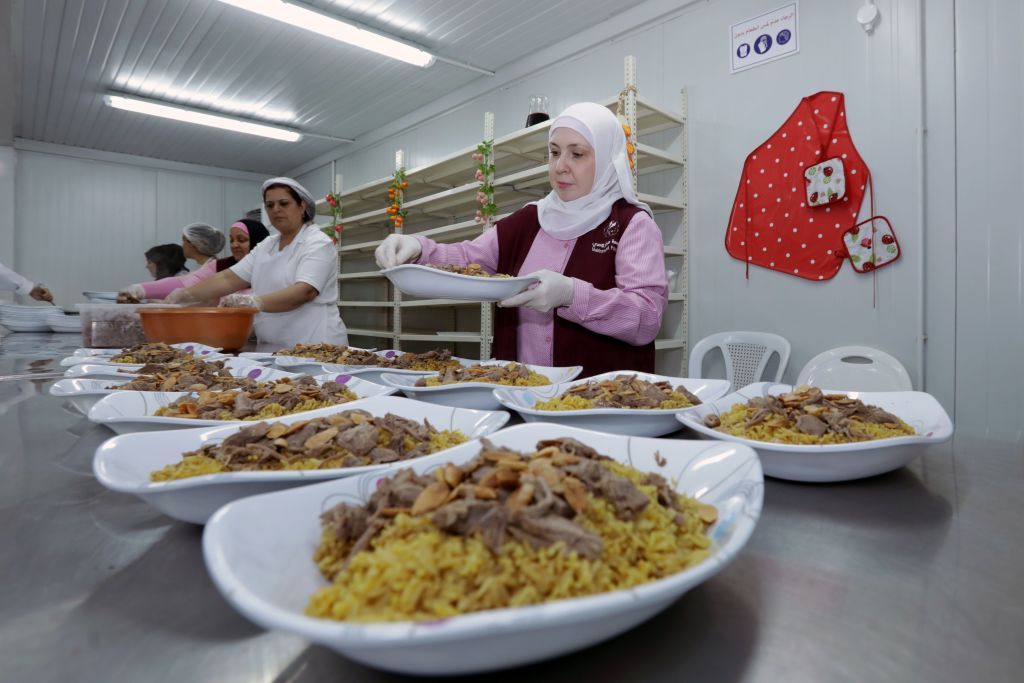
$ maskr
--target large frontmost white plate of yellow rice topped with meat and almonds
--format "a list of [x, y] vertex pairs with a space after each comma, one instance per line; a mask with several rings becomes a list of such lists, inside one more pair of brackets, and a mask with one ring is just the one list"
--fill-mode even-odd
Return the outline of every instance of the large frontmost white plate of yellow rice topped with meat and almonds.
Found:
[[[535, 548], [528, 538], [511, 530], [521, 521], [509, 522], [496, 553], [481, 535], [444, 531], [441, 537], [430, 516], [434, 513], [399, 509], [369, 545], [354, 549], [334, 581], [326, 578], [330, 537], [322, 515], [333, 514], [339, 505], [372, 505], [375, 496], [379, 502], [386, 487], [395, 490], [400, 479], [413, 475], [436, 481], [430, 489], [440, 490], [441, 481], [458, 485], [449, 476], [453, 468], [466, 471], [474, 459], [489, 458], [481, 453], [484, 449], [534, 452], [528, 457], [537, 460], [550, 452], [542, 444], [551, 440], [596, 451], [601, 460], [589, 468], [610, 471], [620, 484], [628, 479], [623, 485], [639, 489], [647, 501], [623, 516], [604, 494], [591, 490], [586, 505], [573, 505], [575, 516], [560, 517], [563, 526], [583, 526], [599, 536], [597, 555], [566, 550], [561, 541]], [[546, 479], [550, 465], [566, 455], [561, 449], [539, 468], [539, 477]], [[504, 463], [505, 457], [499, 454], [496, 463]], [[572, 467], [571, 461], [561, 463]], [[526, 473], [534, 472], [530, 467], [521, 466], [517, 492], [525, 486]], [[479, 485], [497, 470], [478, 471], [483, 474]], [[558, 481], [565, 492], [572, 489], [566, 479]], [[539, 480], [534, 483], [541, 486]], [[543, 500], [532, 494], [529, 506], [562, 500], [547, 497], [558, 484], [552, 486]], [[670, 510], [675, 505], [671, 500], [684, 511]], [[418, 502], [419, 497], [414, 511]], [[532, 423], [500, 430], [486, 443], [456, 446], [430, 463], [413, 463], [389, 473], [388, 481], [371, 473], [236, 501], [210, 519], [203, 549], [220, 592], [265, 629], [296, 634], [380, 669], [467, 674], [571, 652], [653, 616], [739, 553], [762, 502], [761, 466], [748, 446]], [[352, 613], [353, 606], [359, 611], [360, 605], [370, 614], [378, 607], [384, 612], [336, 618]], [[427, 616], [431, 613], [435, 616]]]

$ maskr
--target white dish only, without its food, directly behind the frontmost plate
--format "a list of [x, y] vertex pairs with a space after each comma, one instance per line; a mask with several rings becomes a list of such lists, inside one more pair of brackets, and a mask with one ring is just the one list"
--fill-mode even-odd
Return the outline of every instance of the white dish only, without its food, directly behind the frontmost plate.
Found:
[[[393, 413], [410, 420], [429, 420], [436, 429], [458, 429], [471, 438], [486, 436], [508, 422], [504, 411], [468, 411], [460, 408], [430, 405], [397, 396], [377, 396], [356, 403], [335, 405], [321, 415], [286, 415], [267, 422], [291, 424], [346, 410], [367, 411], [375, 417]], [[327, 410], [327, 409], [325, 409]], [[253, 423], [249, 423], [252, 425]], [[150, 473], [179, 462], [181, 454], [208, 443], [219, 443], [242, 426], [181, 429], [173, 432], [124, 434], [106, 440], [96, 450], [92, 469], [96, 479], [113, 490], [134, 494], [161, 512], [194, 524], [205, 524], [217, 508], [246, 496], [281, 488], [302, 486], [327, 479], [355, 476], [373, 471], [409, 467], [412, 463], [447, 462], [451, 449], [414, 460], [365, 467], [331, 470], [288, 470], [266, 472], [224, 472], [171, 481], [151, 481]]]

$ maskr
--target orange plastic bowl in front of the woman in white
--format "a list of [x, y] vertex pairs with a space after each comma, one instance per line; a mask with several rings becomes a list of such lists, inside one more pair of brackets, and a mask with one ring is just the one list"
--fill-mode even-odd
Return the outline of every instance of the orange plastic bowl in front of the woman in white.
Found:
[[253, 330], [255, 308], [139, 308], [146, 341], [199, 342], [237, 351]]

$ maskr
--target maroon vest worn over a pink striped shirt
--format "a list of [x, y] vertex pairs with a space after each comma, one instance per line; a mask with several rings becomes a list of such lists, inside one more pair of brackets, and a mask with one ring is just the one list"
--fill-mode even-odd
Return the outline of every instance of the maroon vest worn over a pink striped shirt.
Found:
[[[591, 283], [599, 290], [614, 288], [615, 248], [629, 228], [630, 220], [640, 210], [626, 200], [615, 202], [603, 223], [577, 239], [562, 274]], [[499, 221], [495, 229], [498, 230], [498, 272], [520, 274], [519, 269], [541, 229], [537, 206], [530, 204], [519, 209]], [[518, 326], [518, 308], [496, 308], [495, 344], [492, 348], [496, 358], [517, 359]], [[557, 367], [583, 366], [581, 377], [612, 370], [654, 372], [654, 342], [634, 346], [592, 332], [557, 313], [554, 316], [552, 345], [552, 362]]]

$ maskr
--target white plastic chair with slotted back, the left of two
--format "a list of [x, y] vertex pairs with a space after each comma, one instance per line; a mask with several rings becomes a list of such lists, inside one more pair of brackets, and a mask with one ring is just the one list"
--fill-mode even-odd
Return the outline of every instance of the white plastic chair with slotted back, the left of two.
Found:
[[785, 337], [769, 332], [719, 332], [709, 335], [693, 345], [690, 351], [689, 377], [701, 377], [703, 357], [709, 351], [720, 348], [725, 357], [725, 379], [732, 390], [762, 381], [773, 353], [778, 353], [778, 370], [772, 381], [779, 382], [790, 362], [790, 342]]

